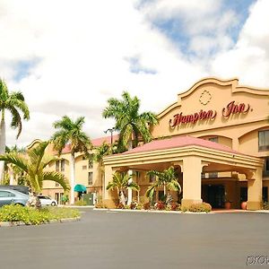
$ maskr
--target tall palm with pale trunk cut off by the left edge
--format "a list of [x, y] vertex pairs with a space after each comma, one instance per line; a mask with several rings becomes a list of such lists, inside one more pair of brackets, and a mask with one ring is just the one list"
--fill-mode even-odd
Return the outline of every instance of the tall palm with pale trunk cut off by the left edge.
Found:
[[[9, 92], [5, 82], [0, 79], [0, 154], [4, 154], [5, 150], [5, 110], [8, 110], [12, 115], [11, 127], [18, 129], [16, 138], [22, 133], [22, 117], [25, 120], [30, 119], [29, 108], [24, 101], [21, 91]], [[20, 112], [22, 112], [22, 117]], [[4, 161], [0, 161], [0, 181], [3, 178]]]

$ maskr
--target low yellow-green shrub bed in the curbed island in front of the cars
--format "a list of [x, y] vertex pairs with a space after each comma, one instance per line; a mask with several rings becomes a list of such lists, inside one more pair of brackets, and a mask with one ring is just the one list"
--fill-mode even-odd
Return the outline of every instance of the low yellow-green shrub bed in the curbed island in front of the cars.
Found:
[[25, 224], [39, 225], [52, 220], [79, 217], [80, 213], [71, 208], [46, 207], [35, 209], [19, 204], [4, 205], [0, 208], [0, 221], [22, 221]]

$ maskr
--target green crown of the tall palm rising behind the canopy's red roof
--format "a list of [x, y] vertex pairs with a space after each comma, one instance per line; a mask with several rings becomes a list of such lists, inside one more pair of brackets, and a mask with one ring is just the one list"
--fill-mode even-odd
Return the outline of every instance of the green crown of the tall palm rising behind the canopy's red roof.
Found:
[[[137, 146], [139, 139], [147, 143], [152, 140], [150, 126], [156, 125], [158, 119], [152, 112], [139, 114], [140, 100], [136, 96], [132, 99], [128, 92], [122, 94], [123, 100], [111, 98], [102, 116], [116, 119], [116, 130], [119, 132], [118, 146], [121, 152]], [[134, 140], [134, 141], [133, 141]], [[133, 141], [133, 143], [132, 143]]]

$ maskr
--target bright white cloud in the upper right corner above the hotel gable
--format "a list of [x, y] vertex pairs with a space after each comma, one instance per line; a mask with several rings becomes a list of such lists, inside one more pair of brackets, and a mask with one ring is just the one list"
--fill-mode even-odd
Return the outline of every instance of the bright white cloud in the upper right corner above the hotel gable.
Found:
[[269, 85], [269, 2], [257, 1], [239, 34], [238, 42], [213, 60], [215, 75], [238, 76], [241, 83], [256, 87]]

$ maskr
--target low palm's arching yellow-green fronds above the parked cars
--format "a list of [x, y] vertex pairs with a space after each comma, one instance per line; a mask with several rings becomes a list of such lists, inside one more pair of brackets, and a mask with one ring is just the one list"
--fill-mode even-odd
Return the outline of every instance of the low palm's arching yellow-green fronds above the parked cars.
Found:
[[30, 149], [28, 156], [20, 152], [10, 152], [0, 155], [0, 161], [13, 163], [14, 166], [24, 172], [27, 185], [36, 195], [42, 191], [45, 180], [59, 183], [65, 191], [70, 189], [68, 181], [63, 174], [46, 170], [49, 163], [56, 161], [56, 158], [45, 154], [47, 146], [48, 142], [39, 143], [38, 146]]

